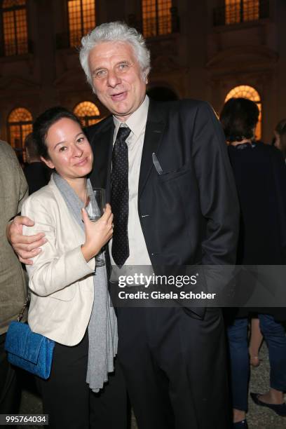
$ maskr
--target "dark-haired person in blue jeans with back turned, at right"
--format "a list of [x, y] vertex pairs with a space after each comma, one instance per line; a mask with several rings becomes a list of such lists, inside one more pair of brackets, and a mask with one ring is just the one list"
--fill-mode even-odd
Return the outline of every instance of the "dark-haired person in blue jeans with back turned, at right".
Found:
[[[286, 167], [280, 152], [269, 144], [255, 142], [259, 116], [257, 104], [245, 98], [231, 98], [220, 120], [236, 179], [240, 200], [238, 265], [283, 265], [286, 262]], [[271, 231], [271, 232], [270, 232]], [[247, 279], [249, 280], [249, 279]], [[252, 280], [253, 282], [254, 280]], [[240, 282], [239, 288], [252, 287]], [[231, 309], [228, 337], [231, 358], [233, 428], [247, 428], [247, 391], [250, 360], [247, 348], [248, 315], [251, 309]], [[267, 393], [251, 393], [252, 400], [286, 416], [286, 336], [281, 324], [285, 308], [255, 308], [261, 333], [268, 346], [271, 367]]]

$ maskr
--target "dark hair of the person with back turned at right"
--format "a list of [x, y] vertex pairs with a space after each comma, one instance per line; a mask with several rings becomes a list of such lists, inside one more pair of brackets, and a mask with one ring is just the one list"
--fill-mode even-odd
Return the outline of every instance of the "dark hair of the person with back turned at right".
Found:
[[230, 98], [224, 104], [220, 121], [228, 142], [241, 142], [254, 137], [259, 109], [257, 104], [247, 98]]

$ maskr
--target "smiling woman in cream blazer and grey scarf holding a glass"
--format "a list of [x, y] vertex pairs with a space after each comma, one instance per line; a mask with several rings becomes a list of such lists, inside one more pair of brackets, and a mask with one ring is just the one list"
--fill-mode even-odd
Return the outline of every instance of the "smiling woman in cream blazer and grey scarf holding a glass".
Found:
[[113, 233], [111, 207], [107, 204], [96, 222], [88, 217], [90, 210], [97, 217], [100, 211], [88, 179], [93, 151], [74, 114], [48, 109], [36, 119], [33, 138], [41, 160], [54, 170], [48, 185], [22, 207], [35, 222], [24, 233], [46, 235], [27, 265], [29, 327], [55, 341], [50, 377], [37, 379], [43, 413], [49, 414], [50, 428], [125, 428], [121, 372], [108, 375], [117, 351], [102, 252]]

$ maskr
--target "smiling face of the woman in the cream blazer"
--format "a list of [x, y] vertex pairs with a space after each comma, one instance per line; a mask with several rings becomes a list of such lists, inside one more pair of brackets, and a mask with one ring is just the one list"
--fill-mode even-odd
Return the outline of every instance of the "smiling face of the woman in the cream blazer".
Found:
[[85, 177], [93, 168], [93, 151], [80, 125], [61, 118], [48, 129], [46, 146], [50, 159], [42, 158], [64, 179]]

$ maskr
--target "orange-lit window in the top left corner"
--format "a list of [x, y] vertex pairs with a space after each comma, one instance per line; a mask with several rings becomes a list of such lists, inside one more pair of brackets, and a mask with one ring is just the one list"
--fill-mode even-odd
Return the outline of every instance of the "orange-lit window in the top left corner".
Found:
[[4, 0], [1, 8], [4, 55], [28, 52], [26, 0]]

